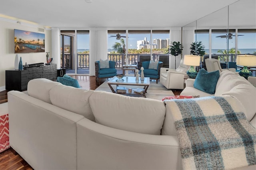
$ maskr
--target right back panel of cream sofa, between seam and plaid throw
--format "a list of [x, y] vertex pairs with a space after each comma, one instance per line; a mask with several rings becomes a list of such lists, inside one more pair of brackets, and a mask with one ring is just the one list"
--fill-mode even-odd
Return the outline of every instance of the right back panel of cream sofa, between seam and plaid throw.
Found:
[[177, 136], [129, 132], [85, 118], [77, 123], [77, 139], [77, 169], [181, 168]]

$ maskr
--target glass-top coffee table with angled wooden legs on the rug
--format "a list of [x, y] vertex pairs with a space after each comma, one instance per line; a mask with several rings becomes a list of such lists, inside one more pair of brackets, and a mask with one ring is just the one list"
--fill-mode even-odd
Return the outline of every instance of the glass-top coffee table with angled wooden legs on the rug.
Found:
[[[149, 77], [144, 77], [144, 81], [141, 81], [140, 78], [136, 81], [136, 77], [123, 77], [123, 81], [120, 81], [117, 77], [113, 77], [108, 81], [108, 86], [110, 87], [113, 93], [124, 94], [124, 95], [141, 95], [146, 97], [146, 92], [148, 86], [150, 85]], [[116, 89], [113, 86], [116, 85]], [[122, 87], [119, 87], [122, 85]], [[142, 88], [131, 88], [132, 86], [142, 86]], [[129, 87], [129, 88], [128, 88]], [[129, 93], [130, 92], [130, 93]]]

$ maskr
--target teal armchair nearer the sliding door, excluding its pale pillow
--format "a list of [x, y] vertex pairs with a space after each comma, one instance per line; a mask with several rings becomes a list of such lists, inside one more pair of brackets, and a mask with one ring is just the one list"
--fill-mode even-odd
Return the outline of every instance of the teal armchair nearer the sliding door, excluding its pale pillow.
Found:
[[107, 79], [110, 77], [116, 76], [116, 61], [108, 61], [109, 68], [100, 68], [100, 61], [95, 61], [95, 76], [96, 82], [97, 78], [99, 79]]

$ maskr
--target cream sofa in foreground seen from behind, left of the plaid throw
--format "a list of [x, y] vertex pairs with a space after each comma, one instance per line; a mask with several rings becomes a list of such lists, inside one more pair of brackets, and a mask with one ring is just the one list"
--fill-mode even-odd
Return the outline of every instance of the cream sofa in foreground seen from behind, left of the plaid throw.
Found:
[[8, 109], [10, 146], [34, 169], [182, 168], [162, 101], [33, 79], [8, 92]]

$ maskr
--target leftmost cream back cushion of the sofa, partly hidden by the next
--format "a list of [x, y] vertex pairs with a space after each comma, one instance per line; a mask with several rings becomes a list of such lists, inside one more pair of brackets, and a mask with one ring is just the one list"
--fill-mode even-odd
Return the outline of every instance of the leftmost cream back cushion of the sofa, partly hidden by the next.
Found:
[[52, 104], [49, 91], [56, 85], [61, 85], [61, 83], [45, 78], [32, 79], [28, 82], [28, 95]]

